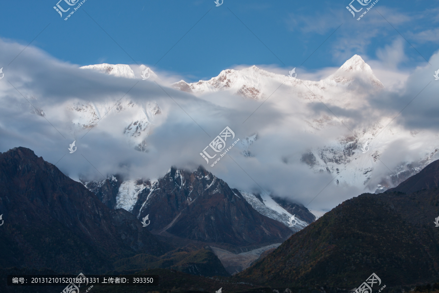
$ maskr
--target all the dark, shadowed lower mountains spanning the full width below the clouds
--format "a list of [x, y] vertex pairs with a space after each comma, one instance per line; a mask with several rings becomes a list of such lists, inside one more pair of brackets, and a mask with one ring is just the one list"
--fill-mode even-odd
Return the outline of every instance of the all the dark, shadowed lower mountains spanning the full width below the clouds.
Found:
[[[286, 293], [289, 288], [355, 291], [372, 273], [392, 292], [424, 288], [438, 281], [439, 231], [434, 220], [439, 214], [439, 160], [399, 184], [397, 190], [364, 193], [344, 201], [295, 233], [260, 214], [241, 192], [202, 167], [194, 171], [171, 168], [159, 181], [145, 183], [132, 212], [143, 216], [143, 209], [160, 210], [157, 216], [150, 214], [147, 227], [151, 227], [145, 229], [132, 212], [109, 208], [98, 195], [30, 149], [17, 147], [1, 153], [0, 166], [4, 220], [0, 257], [6, 274], [36, 270], [142, 274], [167, 268], [198, 275], [192, 280], [173, 274], [175, 271], [160, 271], [160, 288], [176, 289], [179, 284], [180, 292], [202, 291], [201, 287], [186, 288], [195, 280], [208, 287], [224, 282], [223, 290], [230, 292]], [[117, 176], [114, 179], [118, 180]], [[111, 189], [108, 185], [105, 188]], [[235, 221], [238, 226], [227, 224], [228, 217], [234, 215], [239, 216]], [[187, 216], [194, 217], [195, 225]], [[165, 226], [169, 221], [171, 225]], [[179, 229], [172, 230], [176, 224]], [[190, 229], [185, 229], [186, 225]], [[162, 227], [167, 228], [166, 233], [161, 233]], [[216, 235], [205, 229], [215, 230]], [[292, 235], [279, 247], [263, 249], [250, 267], [227, 277], [217, 255], [222, 253], [227, 260], [233, 256], [224, 248], [245, 248], [264, 239], [276, 241], [282, 232]], [[219, 241], [217, 246], [222, 241], [223, 248], [209, 241]], [[236, 255], [240, 258], [244, 253]], [[117, 288], [96, 290], [104, 289], [117, 292]], [[138, 289], [133, 288], [133, 292]], [[5, 292], [10, 292], [9, 288]]]

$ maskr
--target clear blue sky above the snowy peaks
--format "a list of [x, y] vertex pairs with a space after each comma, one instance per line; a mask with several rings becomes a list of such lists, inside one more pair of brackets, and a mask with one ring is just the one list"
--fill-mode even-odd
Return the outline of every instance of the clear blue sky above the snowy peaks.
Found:
[[439, 42], [438, 0], [379, 0], [382, 16], [372, 9], [360, 21], [347, 0], [224, 0], [219, 7], [213, 0], [86, 0], [67, 21], [56, 3], [3, 1], [0, 37], [27, 45], [40, 34], [32, 45], [61, 61], [143, 63], [191, 82], [241, 64], [312, 72], [354, 54], [405, 71], [426, 63]]

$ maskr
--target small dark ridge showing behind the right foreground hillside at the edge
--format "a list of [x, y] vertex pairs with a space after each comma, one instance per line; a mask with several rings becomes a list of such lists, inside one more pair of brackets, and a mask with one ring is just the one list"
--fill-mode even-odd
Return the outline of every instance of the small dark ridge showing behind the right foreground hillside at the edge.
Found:
[[412, 193], [422, 189], [430, 189], [439, 186], [439, 160], [434, 161], [423, 168], [418, 174], [413, 175], [401, 182], [397, 187], [390, 188], [386, 192]]

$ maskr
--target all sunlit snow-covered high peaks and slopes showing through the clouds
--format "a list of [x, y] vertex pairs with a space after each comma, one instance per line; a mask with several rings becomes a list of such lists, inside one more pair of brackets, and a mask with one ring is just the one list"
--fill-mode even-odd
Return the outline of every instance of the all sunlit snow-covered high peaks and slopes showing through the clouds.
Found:
[[[139, 79], [145, 65], [129, 66], [125, 64], [96, 64], [81, 67], [84, 70], [98, 70], [121, 78]], [[159, 77], [148, 67], [151, 80], [159, 81]], [[164, 84], [180, 91], [195, 95], [200, 99], [216, 92], [236, 95], [242, 99], [265, 101], [276, 88], [281, 85], [284, 93], [296, 97], [301, 105], [313, 106], [323, 103], [331, 108], [340, 108], [349, 111], [361, 111], [370, 105], [370, 96], [376, 96], [385, 91], [384, 85], [374, 75], [371, 67], [359, 55], [354, 55], [347, 60], [333, 74], [320, 81], [307, 81], [291, 78], [287, 74], [269, 72], [257, 66], [239, 70], [226, 69], [217, 77], [208, 81], [186, 83], [181, 80], [174, 84]], [[367, 88], [367, 90], [365, 90]], [[93, 126], [100, 117], [109, 111], [110, 104], [98, 105], [96, 103], [83, 103], [71, 107], [76, 112], [73, 122], [78, 127]], [[160, 105], [153, 102], [147, 104], [134, 103], [128, 98], [123, 98], [112, 108], [112, 112], [132, 109], [130, 121], [126, 121], [126, 135], [130, 144], [136, 149], [147, 151], [147, 137], [154, 128], [154, 120], [160, 115]], [[395, 114], [396, 115], [396, 114]], [[340, 186], [354, 186], [359, 190], [379, 193], [388, 188], [396, 187], [403, 180], [419, 172], [423, 167], [435, 160], [438, 152], [438, 138], [431, 137], [428, 133], [409, 131], [397, 126], [387, 126], [394, 118], [392, 114], [381, 116], [376, 121], [366, 124], [356, 124], [354, 119], [339, 120], [337, 117], [318, 113], [301, 118], [300, 127], [306, 133], [316, 136], [324, 135], [334, 126], [344, 128], [346, 134], [328, 138], [324, 145], [308, 146], [302, 150], [298, 159], [285, 156], [285, 164], [291, 160], [298, 160], [315, 173], [326, 172], [337, 178], [333, 184]], [[341, 129], [340, 128], [340, 129]], [[378, 137], [376, 137], [379, 135]], [[431, 140], [427, 142], [425, 140]], [[259, 144], [259, 136], [248, 133], [239, 143], [241, 155], [252, 157], [252, 145]], [[381, 161], [382, 154], [389, 146], [400, 140], [425, 142], [417, 158], [401, 159], [396, 167], [391, 166], [390, 171]], [[362, 149], [370, 149], [366, 155]], [[343, 171], [346, 168], [345, 171]], [[380, 168], [385, 168], [387, 174], [382, 174]], [[384, 173], [385, 173], [384, 172]]]

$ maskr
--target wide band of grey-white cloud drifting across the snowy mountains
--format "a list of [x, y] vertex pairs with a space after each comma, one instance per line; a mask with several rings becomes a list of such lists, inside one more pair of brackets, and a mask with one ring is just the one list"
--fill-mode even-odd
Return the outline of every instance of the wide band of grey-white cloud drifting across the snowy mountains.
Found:
[[[399, 45], [394, 42], [393, 46], [381, 49], [381, 58], [391, 56]], [[0, 50], [4, 52], [0, 63], [10, 62], [22, 48], [16, 43], [0, 41]], [[396, 66], [403, 58], [400, 55], [389, 62]], [[432, 57], [431, 62], [439, 64], [438, 55]], [[334, 181], [325, 188], [332, 175], [315, 173], [300, 162], [307, 149], [330, 145], [338, 137], [350, 135], [350, 132], [337, 125], [321, 132], [310, 131], [305, 120], [312, 121], [323, 114], [333, 117], [332, 113], [318, 100], [304, 103], [298, 92], [287, 87], [279, 88], [259, 107], [261, 101], [242, 99], [227, 91], [199, 97], [180, 92], [168, 87], [167, 78], [161, 75], [159, 83], [172, 98], [149, 80], [140, 81], [126, 94], [138, 80], [82, 70], [78, 65], [62, 63], [32, 46], [13, 64], [3, 70], [5, 78], [0, 82], [0, 150], [25, 146], [53, 164], [62, 158], [57, 167], [74, 179], [78, 179], [80, 174], [99, 179], [100, 173], [104, 176], [122, 173], [130, 178], [154, 179], [166, 173], [171, 166], [190, 169], [206, 166], [200, 156], [201, 150], [225, 126], [229, 126], [235, 131], [236, 138], [241, 140], [258, 133], [258, 140], [249, 148], [255, 157], [244, 157], [239, 148], [234, 147], [229, 153], [236, 163], [225, 156], [215, 167], [207, 167], [233, 188], [252, 190], [261, 186], [267, 192], [289, 196], [305, 205], [324, 189], [309, 206], [314, 209], [332, 208], [364, 191], [364, 188], [336, 185]], [[394, 67], [389, 67], [387, 72], [395, 75]], [[384, 66], [380, 70], [382, 75], [386, 74]], [[306, 74], [310, 79], [319, 80], [325, 73], [333, 71], [334, 68], [326, 68]], [[324, 97], [325, 104], [348, 126], [362, 129], [382, 117], [396, 115], [431, 80], [431, 68], [419, 67], [413, 70], [406, 84], [400, 85], [399, 92], [384, 91], [374, 96], [370, 88], [359, 84], [358, 88], [350, 90], [362, 91], [361, 95]], [[53, 126], [43, 117], [31, 113], [32, 107], [8, 82], [14, 84], [25, 97], [34, 96], [44, 110], [45, 118]], [[439, 109], [435, 93], [438, 86], [439, 83], [430, 84], [416, 103], [407, 107], [389, 126], [392, 131], [413, 128], [437, 133], [439, 121], [436, 113]], [[155, 101], [162, 109], [147, 138], [148, 152], [136, 151], [127, 144], [123, 135], [127, 117], [123, 112], [108, 112], [83, 138], [88, 129], [73, 131], [71, 120], [66, 115], [66, 105], [72, 101], [111, 103], [125, 94], [137, 103]], [[345, 105], [343, 103], [348, 103], [346, 105], [350, 107], [341, 106]], [[334, 121], [338, 123], [338, 120]], [[69, 154], [67, 147], [74, 140], [78, 150]], [[399, 144], [398, 147], [400, 156], [392, 156], [393, 149], [383, 153], [382, 159], [387, 166], [397, 166], [403, 154], [408, 160], [419, 157], [419, 153], [424, 151], [422, 146], [415, 147], [412, 143], [407, 146]], [[346, 174], [349, 172], [347, 170]], [[385, 169], [381, 172], [377, 174], [387, 174]], [[379, 178], [373, 180], [378, 182]]]

